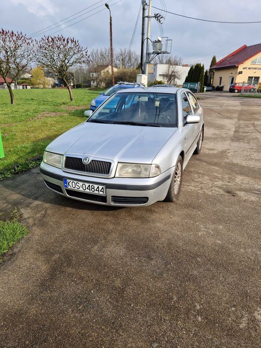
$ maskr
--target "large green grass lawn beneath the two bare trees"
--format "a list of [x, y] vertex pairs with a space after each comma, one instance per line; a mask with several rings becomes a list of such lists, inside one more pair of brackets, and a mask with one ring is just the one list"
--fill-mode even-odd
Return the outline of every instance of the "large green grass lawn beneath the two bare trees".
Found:
[[83, 113], [100, 92], [67, 89], [14, 90], [10, 105], [7, 90], [0, 90], [0, 130], [5, 157], [0, 159], [0, 178], [38, 164], [29, 161], [42, 156], [45, 147], [58, 135], [83, 122]]

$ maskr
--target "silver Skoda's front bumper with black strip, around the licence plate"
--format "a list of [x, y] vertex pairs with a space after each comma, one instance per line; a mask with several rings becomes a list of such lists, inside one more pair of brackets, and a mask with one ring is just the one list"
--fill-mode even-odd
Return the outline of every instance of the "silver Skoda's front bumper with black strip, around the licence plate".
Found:
[[[41, 163], [40, 172], [45, 184], [51, 190], [79, 201], [107, 206], [132, 207], [149, 206], [166, 197], [174, 168], [154, 178], [97, 178], [72, 174], [59, 168]], [[63, 186], [63, 178], [106, 186], [106, 197], [68, 190]]]

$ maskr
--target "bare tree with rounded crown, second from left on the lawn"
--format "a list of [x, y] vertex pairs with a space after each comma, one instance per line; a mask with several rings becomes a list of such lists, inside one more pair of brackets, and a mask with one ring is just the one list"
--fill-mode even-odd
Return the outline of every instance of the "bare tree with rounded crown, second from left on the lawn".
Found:
[[37, 62], [64, 81], [70, 100], [73, 101], [70, 86], [70, 70], [77, 64], [89, 62], [87, 48], [83, 48], [73, 37], [62, 35], [45, 36], [37, 43]]

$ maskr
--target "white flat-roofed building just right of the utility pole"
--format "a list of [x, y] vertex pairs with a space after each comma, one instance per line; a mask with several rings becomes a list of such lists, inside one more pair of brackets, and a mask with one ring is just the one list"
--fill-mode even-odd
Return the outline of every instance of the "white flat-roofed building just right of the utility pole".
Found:
[[190, 67], [185, 65], [168, 65], [168, 64], [155, 64], [153, 72], [153, 81], [163, 81], [168, 83], [168, 75], [179, 75], [179, 79], [173, 78], [171, 85], [183, 86], [186, 76], [188, 75]]

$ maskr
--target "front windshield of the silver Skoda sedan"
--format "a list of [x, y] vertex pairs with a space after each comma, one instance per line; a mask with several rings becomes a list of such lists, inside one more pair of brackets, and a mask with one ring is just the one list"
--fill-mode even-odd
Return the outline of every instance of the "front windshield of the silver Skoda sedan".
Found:
[[170, 93], [116, 93], [88, 122], [176, 127], [176, 95]]

